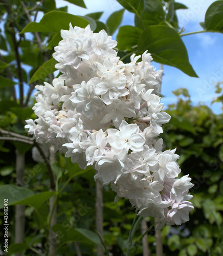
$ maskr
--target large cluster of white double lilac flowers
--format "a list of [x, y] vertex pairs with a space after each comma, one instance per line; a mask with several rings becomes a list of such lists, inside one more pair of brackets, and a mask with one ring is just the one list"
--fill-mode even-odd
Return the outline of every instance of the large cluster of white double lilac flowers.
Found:
[[113, 48], [117, 42], [102, 30], [72, 27], [61, 30], [53, 57], [62, 73], [36, 86], [38, 119], [26, 128], [42, 146], [54, 145], [81, 168], [92, 165], [102, 185], [110, 184], [118, 198], [129, 199], [138, 215], [180, 225], [193, 209], [193, 186], [181, 169], [175, 150], [162, 152], [162, 112], [159, 94], [162, 71], [150, 65], [145, 52], [123, 63]]

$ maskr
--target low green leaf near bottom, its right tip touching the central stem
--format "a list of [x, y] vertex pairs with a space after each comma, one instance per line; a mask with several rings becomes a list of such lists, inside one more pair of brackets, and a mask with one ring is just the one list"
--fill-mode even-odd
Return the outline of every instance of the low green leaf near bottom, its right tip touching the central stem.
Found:
[[[77, 241], [86, 244], [100, 244], [96, 233], [88, 230], [83, 231], [82, 228], [72, 228], [70, 225], [56, 224], [52, 227], [52, 230], [57, 233], [58, 239], [62, 243]], [[95, 236], [94, 239], [93, 236]]]

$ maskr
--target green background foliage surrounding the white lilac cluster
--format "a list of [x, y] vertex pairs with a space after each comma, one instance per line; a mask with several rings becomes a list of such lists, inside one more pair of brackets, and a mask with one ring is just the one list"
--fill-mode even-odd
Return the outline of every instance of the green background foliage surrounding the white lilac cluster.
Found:
[[[86, 8], [83, 0], [68, 2]], [[0, 15], [0, 207], [4, 198], [9, 199], [9, 250], [8, 254], [48, 255], [49, 232], [52, 212], [49, 199], [55, 196], [57, 224], [53, 231], [58, 233], [57, 254], [96, 255], [100, 240], [95, 233], [95, 181], [94, 170], [79, 169], [63, 155], [57, 155], [52, 165], [56, 176], [55, 191], [49, 190], [49, 169], [46, 163], [32, 159], [32, 143], [19, 141], [27, 136], [25, 120], [35, 118], [32, 106], [34, 86], [43, 81], [51, 82], [58, 75], [52, 59], [54, 47], [61, 40], [60, 30], [90, 24], [94, 32], [104, 29], [109, 35], [118, 29], [124, 11], [135, 13], [135, 26], [119, 28], [117, 35], [118, 55], [124, 62], [132, 53], [142, 54], [148, 50], [155, 61], [182, 70], [196, 77], [190, 65], [187, 49], [181, 39], [184, 34], [179, 28], [177, 9], [186, 6], [174, 0], [118, 0], [123, 9], [100, 21], [101, 12], [78, 16], [67, 13], [67, 7], [56, 8], [54, 0], [1, 2]], [[43, 13], [36, 22], [37, 14]], [[214, 2], [207, 10], [202, 32], [223, 32], [223, 1]], [[201, 60], [202, 61], [202, 60]], [[163, 85], [165, 86], [165, 84]], [[28, 92], [24, 93], [24, 88]], [[222, 101], [221, 83], [216, 85]], [[190, 222], [180, 227], [166, 226], [162, 230], [165, 255], [223, 255], [223, 116], [215, 115], [205, 105], [193, 106], [186, 89], [174, 92], [177, 103], [169, 105], [171, 121], [165, 125], [163, 139], [166, 148], [177, 147], [181, 156], [179, 164], [182, 175], [190, 174], [195, 186], [191, 189], [195, 209]], [[19, 96], [17, 96], [19, 95]], [[4, 133], [4, 131], [12, 132]], [[16, 134], [16, 136], [15, 136]], [[17, 140], [13, 140], [17, 138]], [[22, 138], [22, 137], [20, 137]], [[14, 153], [16, 152], [16, 154]], [[18, 178], [16, 158], [25, 158], [25, 174]], [[109, 186], [103, 188], [104, 242], [113, 255], [124, 255], [135, 212], [124, 200], [114, 204], [115, 194]], [[25, 239], [15, 244], [15, 206], [26, 205]], [[3, 214], [0, 212], [1, 227]], [[149, 223], [153, 220], [147, 218]], [[0, 229], [0, 243], [4, 242], [4, 229]], [[136, 240], [140, 236], [138, 230]], [[148, 236], [149, 248], [155, 255], [154, 229]], [[2, 255], [4, 255], [2, 253]], [[142, 255], [142, 245], [136, 255]]]

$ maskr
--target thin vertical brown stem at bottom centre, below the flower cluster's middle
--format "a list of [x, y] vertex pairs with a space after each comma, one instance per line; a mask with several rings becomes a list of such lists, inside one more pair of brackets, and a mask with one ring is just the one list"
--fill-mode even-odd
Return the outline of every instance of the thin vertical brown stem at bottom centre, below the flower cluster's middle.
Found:
[[[99, 179], [96, 180], [96, 231], [103, 241], [103, 193], [102, 185]], [[97, 256], [104, 256], [104, 248], [97, 245]]]

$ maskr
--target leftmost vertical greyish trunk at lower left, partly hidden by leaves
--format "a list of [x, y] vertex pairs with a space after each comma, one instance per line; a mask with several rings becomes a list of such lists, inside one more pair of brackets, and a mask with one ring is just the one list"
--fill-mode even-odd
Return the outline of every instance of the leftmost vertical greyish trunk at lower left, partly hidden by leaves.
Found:
[[[24, 186], [25, 154], [20, 155], [15, 151], [16, 185]], [[15, 244], [24, 243], [25, 233], [25, 205], [15, 206]], [[16, 256], [22, 256], [22, 252], [16, 253]]]

